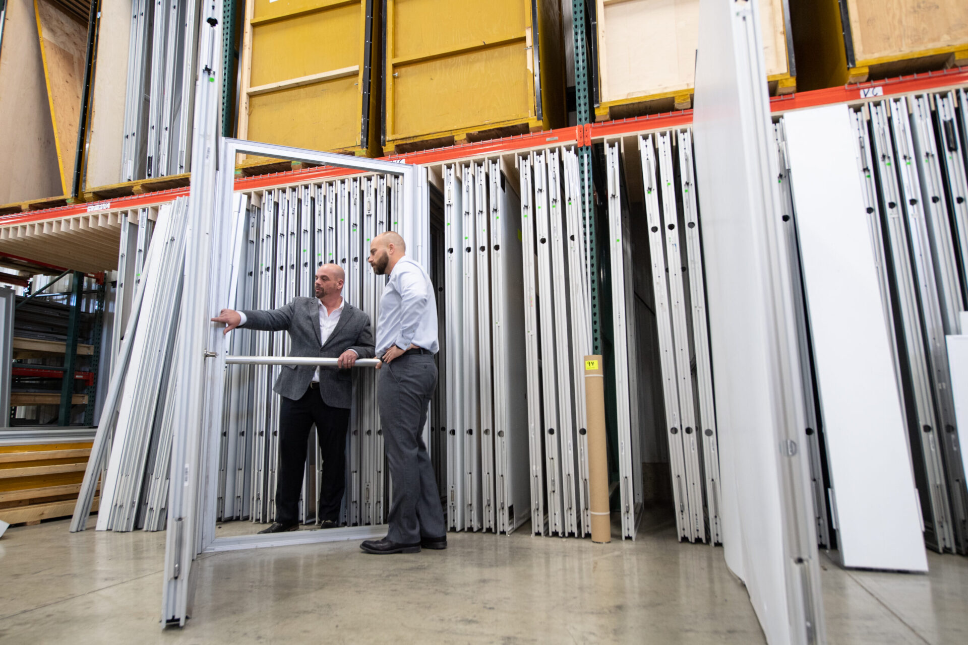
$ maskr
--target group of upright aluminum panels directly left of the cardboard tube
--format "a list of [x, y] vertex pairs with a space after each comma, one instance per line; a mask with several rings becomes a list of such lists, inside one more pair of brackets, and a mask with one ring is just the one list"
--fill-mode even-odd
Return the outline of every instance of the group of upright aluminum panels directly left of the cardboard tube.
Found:
[[525, 305], [531, 528], [590, 535], [584, 357], [590, 276], [573, 148], [518, 159]]

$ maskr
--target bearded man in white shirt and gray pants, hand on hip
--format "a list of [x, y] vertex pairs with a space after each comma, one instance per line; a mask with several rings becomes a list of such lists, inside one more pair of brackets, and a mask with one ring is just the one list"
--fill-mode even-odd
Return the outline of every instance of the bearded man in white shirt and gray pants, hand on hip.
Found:
[[393, 499], [382, 540], [360, 545], [367, 553], [419, 553], [447, 547], [434, 467], [423, 441], [427, 408], [437, 387], [437, 300], [434, 285], [406, 255], [399, 234], [382, 233], [368, 262], [389, 276], [379, 301], [377, 398]]

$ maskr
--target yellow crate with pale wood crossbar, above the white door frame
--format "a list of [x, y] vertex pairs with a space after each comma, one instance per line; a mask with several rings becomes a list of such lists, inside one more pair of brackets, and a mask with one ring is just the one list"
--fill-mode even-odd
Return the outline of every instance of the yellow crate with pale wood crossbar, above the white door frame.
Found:
[[379, 0], [248, 2], [239, 138], [378, 157], [379, 8]]

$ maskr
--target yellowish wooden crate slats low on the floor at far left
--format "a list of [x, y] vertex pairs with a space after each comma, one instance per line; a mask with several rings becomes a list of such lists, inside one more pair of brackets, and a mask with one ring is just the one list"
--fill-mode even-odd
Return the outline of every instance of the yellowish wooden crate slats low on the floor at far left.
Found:
[[89, 442], [0, 447], [0, 519], [36, 524], [73, 514], [90, 454]]

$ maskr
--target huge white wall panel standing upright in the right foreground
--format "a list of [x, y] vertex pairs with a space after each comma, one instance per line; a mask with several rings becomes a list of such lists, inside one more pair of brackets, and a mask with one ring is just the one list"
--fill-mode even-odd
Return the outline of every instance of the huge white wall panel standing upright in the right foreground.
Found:
[[[727, 565], [770, 643], [826, 642], [756, 2], [701, 0], [694, 133]], [[801, 415], [802, 416], [802, 415]], [[781, 450], [783, 451], [781, 453]]]

